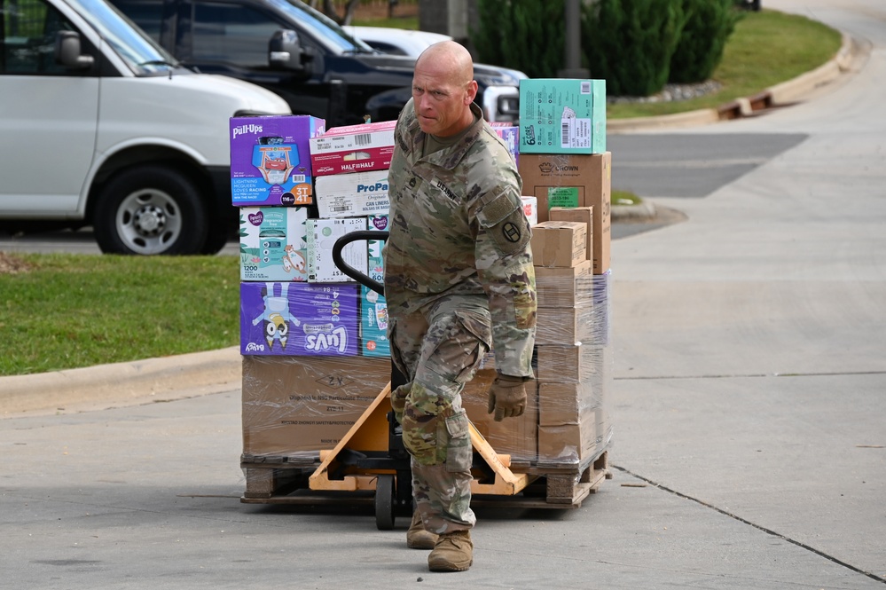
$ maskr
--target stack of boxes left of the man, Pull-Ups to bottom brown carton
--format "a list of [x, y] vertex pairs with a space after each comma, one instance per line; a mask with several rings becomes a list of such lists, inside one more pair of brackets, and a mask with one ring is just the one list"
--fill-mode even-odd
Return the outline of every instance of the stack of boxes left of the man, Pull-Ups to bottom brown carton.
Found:
[[[231, 119], [244, 460], [312, 460], [390, 380], [384, 297], [345, 275], [332, 252], [346, 233], [387, 229], [393, 139], [393, 123]], [[382, 243], [351, 242], [342, 259], [380, 280]]]

